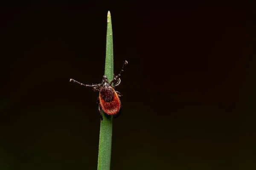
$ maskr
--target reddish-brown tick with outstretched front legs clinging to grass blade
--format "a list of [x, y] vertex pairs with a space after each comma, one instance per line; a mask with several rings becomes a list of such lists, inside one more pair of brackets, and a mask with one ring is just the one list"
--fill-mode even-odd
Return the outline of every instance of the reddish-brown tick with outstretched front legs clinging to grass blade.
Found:
[[[118, 91], [115, 91], [115, 88], [120, 85], [120, 77], [123, 74], [127, 64], [128, 62], [125, 60], [125, 63], [122, 66], [122, 70], [117, 76], [114, 76], [111, 82], [108, 82], [108, 77], [106, 75], [102, 77], [102, 82], [96, 85], [85, 85], [74, 79], [70, 79], [70, 82], [73, 81], [85, 87], [92, 87], [93, 91], [99, 92], [99, 97], [97, 97], [97, 104], [101, 120], [103, 120], [102, 110], [108, 115], [113, 115], [115, 118], [118, 117], [121, 113], [122, 105], [119, 98], [122, 96], [122, 94], [120, 94]], [[113, 87], [111, 86], [112, 83], [114, 83]]]

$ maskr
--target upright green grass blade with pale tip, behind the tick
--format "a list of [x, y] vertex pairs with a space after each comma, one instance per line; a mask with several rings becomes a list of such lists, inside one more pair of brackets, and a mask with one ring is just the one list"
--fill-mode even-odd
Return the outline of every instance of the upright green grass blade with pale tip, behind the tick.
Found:
[[[105, 75], [108, 77], [108, 81], [111, 81], [114, 74], [114, 58], [110, 11], [108, 11], [107, 23]], [[102, 116], [103, 121], [100, 124], [99, 132], [98, 170], [110, 170], [113, 118], [112, 116], [105, 114], [104, 111], [102, 111]]]

